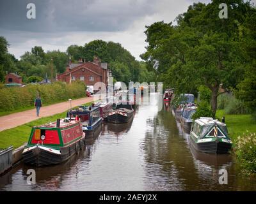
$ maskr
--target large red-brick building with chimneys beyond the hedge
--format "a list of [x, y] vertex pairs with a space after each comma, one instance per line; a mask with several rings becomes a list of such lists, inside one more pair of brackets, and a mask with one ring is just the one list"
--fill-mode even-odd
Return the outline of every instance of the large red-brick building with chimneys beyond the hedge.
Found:
[[94, 85], [96, 82], [103, 82], [108, 85], [108, 77], [108, 63], [102, 63], [98, 57], [94, 57], [93, 62], [83, 62], [82, 60], [78, 64], [70, 62], [66, 71], [58, 75], [56, 79], [68, 84], [79, 80], [86, 85]]

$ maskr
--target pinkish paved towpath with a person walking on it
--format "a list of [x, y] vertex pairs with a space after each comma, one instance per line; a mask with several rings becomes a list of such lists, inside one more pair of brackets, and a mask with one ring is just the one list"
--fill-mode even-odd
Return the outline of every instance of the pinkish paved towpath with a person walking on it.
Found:
[[[81, 99], [72, 100], [72, 107], [83, 105], [84, 103], [89, 103], [93, 101], [93, 97], [86, 97]], [[70, 108], [70, 102], [56, 103], [54, 105], [42, 106], [40, 108], [40, 116], [36, 117], [36, 109], [26, 110], [23, 112], [12, 113], [10, 115], [4, 115], [0, 117], [0, 131], [4, 129], [15, 128], [32, 120], [36, 120], [41, 117], [51, 116], [57, 113], [65, 112]]]

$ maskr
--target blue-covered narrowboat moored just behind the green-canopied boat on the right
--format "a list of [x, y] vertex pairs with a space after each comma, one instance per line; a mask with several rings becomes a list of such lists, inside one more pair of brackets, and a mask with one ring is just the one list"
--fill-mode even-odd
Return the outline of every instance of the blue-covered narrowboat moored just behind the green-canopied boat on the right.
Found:
[[191, 125], [193, 120], [191, 119], [192, 115], [196, 112], [196, 106], [186, 107], [182, 109], [180, 116], [180, 125], [184, 131], [190, 133]]

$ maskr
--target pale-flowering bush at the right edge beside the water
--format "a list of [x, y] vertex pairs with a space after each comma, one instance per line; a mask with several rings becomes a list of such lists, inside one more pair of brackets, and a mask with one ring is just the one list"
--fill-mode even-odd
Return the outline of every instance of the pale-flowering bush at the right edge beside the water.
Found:
[[256, 173], [256, 133], [238, 136], [236, 142], [237, 159], [246, 175]]

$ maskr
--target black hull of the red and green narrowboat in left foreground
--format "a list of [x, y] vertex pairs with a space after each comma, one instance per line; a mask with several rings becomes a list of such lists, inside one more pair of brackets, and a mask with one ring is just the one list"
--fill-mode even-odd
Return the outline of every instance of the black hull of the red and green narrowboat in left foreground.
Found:
[[78, 154], [85, 147], [85, 136], [76, 140], [60, 150], [51, 149], [49, 146], [35, 145], [26, 147], [22, 153], [24, 163], [33, 166], [47, 166], [52, 164], [60, 164], [67, 161], [70, 157]]

